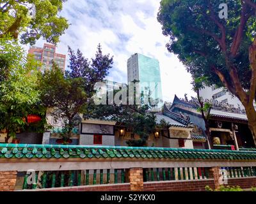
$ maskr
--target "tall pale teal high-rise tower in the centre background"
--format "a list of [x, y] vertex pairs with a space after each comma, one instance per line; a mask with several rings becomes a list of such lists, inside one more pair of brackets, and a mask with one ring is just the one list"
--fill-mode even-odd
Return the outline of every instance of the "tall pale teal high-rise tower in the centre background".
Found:
[[157, 100], [157, 108], [163, 107], [161, 75], [157, 59], [138, 53], [131, 55], [127, 61], [127, 80], [128, 83], [139, 81], [140, 93], [149, 94], [150, 98]]

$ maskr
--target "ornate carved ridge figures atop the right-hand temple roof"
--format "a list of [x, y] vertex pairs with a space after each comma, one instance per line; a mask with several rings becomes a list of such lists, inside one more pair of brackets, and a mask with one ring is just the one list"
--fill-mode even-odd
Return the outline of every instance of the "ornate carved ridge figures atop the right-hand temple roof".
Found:
[[[230, 113], [238, 113], [238, 114], [245, 114], [245, 110], [241, 109], [240, 106], [238, 108], [235, 108], [234, 105], [230, 105], [228, 103], [219, 102], [216, 99], [204, 99], [204, 103], [211, 103], [212, 110], [220, 110], [222, 112], [230, 112]], [[183, 106], [188, 106], [189, 108], [197, 109], [200, 107], [200, 104], [198, 102], [197, 98], [194, 98], [191, 96], [191, 99], [188, 100], [188, 98], [178, 98], [175, 94], [175, 97], [173, 99], [173, 105], [179, 104]]]

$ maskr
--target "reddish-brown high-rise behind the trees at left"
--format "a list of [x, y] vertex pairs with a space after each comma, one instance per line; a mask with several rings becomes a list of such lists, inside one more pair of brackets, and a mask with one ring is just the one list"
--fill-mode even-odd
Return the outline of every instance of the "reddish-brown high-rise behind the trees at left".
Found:
[[44, 43], [44, 47], [31, 47], [29, 54], [33, 54], [37, 61], [42, 62], [41, 71], [52, 68], [52, 61], [58, 64], [59, 68], [65, 71], [66, 55], [56, 53], [56, 46]]

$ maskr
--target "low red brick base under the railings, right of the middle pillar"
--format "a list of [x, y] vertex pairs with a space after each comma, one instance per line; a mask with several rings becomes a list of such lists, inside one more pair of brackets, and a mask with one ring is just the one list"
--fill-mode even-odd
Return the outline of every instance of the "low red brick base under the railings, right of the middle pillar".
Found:
[[145, 182], [143, 191], [205, 191], [205, 186], [214, 187], [214, 180]]

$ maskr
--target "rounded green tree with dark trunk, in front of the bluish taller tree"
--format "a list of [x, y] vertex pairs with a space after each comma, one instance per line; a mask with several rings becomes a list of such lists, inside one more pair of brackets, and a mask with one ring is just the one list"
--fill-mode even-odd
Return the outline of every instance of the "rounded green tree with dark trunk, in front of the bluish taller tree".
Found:
[[88, 96], [83, 89], [83, 79], [65, 76], [54, 64], [51, 70], [40, 73], [38, 85], [43, 105], [52, 108], [51, 115], [55, 119], [63, 119], [65, 122], [61, 136], [67, 142], [72, 129], [77, 125], [77, 114], [86, 110]]

